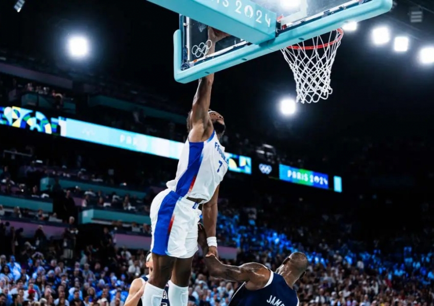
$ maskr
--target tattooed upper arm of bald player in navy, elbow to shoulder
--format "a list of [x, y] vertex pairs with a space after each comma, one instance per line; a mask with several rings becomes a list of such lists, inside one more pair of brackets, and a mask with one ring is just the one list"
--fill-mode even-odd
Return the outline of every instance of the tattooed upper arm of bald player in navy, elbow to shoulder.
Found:
[[270, 271], [265, 266], [257, 263], [248, 263], [239, 267], [229, 266], [222, 264], [214, 256], [210, 256], [205, 258], [205, 264], [211, 276], [224, 278], [231, 282], [263, 283], [268, 281], [267, 276], [270, 275]]

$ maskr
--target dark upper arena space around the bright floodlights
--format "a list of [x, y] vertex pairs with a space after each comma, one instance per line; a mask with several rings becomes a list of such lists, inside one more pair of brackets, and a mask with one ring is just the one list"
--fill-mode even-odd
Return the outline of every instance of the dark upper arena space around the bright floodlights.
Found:
[[[29, 0], [20, 13], [14, 4], [0, 3], [0, 46], [147, 86], [188, 111], [196, 82], [183, 85], [173, 78], [176, 13], [144, 0]], [[427, 9], [422, 24], [409, 23], [414, 4]], [[401, 0], [391, 13], [347, 33], [333, 66], [333, 95], [317, 105], [299, 105], [294, 117], [284, 118], [278, 110], [280, 98], [295, 95], [292, 72], [278, 52], [217, 73], [211, 107], [225, 116], [228, 133], [246, 131], [271, 143], [288, 135], [327, 146], [337, 136], [430, 137], [434, 67], [420, 65], [417, 55], [420, 47], [434, 44], [433, 7]], [[376, 24], [390, 25], [393, 35], [410, 35], [409, 51], [373, 46], [370, 31]], [[67, 58], [65, 41], [75, 33], [91, 40], [86, 61]]]

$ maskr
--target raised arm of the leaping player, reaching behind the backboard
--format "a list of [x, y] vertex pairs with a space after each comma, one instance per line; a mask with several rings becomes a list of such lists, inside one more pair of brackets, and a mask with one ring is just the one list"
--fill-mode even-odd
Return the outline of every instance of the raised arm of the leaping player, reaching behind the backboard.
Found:
[[[208, 41], [209, 46], [208, 53], [212, 54], [215, 51], [215, 44], [228, 34], [216, 31], [208, 27]], [[206, 77], [199, 79], [198, 90], [196, 91], [195, 98], [193, 99], [193, 105], [191, 107], [191, 114], [189, 117], [189, 124], [192, 129], [200, 129], [199, 132], [205, 132], [209, 122], [209, 105], [211, 101], [211, 87], [214, 82], [214, 73], [208, 74]]]

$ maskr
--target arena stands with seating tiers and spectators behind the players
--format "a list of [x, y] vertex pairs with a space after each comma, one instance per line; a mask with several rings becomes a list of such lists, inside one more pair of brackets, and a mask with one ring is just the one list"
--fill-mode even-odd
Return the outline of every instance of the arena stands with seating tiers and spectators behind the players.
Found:
[[[74, 92], [66, 96], [72, 100]], [[116, 115], [125, 129], [144, 128], [161, 137], [170, 132], [151, 120], [140, 127], [138, 122], [131, 124], [131, 114]], [[113, 122], [110, 116], [99, 119]], [[176, 163], [162, 165], [156, 157], [131, 153], [124, 158], [115, 149], [62, 139], [48, 142], [34, 132], [0, 128], [7, 131], [0, 148], [13, 152], [1, 160], [0, 306], [122, 306], [132, 280], [147, 273], [147, 249], [124, 246], [129, 239], [149, 240], [150, 203]], [[246, 145], [240, 136], [227, 141], [238, 145], [240, 152], [260, 145]], [[342, 144], [347, 160], [276, 155], [287, 164], [340, 168], [349, 182], [362, 182], [340, 200], [292, 187], [288, 189], [297, 190], [295, 196], [281, 194], [282, 188], [270, 187], [274, 182], [246, 197], [235, 187], [250, 182], [225, 179], [218, 222], [219, 245], [228, 248], [221, 252], [223, 261], [255, 261], [276, 269], [290, 252], [305, 252], [309, 272], [296, 288], [303, 306], [432, 305], [433, 195], [426, 189], [432, 183], [432, 165], [419, 164], [417, 158], [431, 144], [409, 139], [387, 144], [342, 139]], [[380, 149], [384, 146], [389, 149]], [[397, 148], [412, 150], [407, 164], [390, 158]], [[367, 188], [368, 177], [376, 177], [381, 186], [383, 175], [393, 175], [397, 167], [411, 170], [408, 177], [423, 182], [420, 194]], [[396, 181], [402, 184], [400, 177]], [[236, 259], [228, 259], [229, 250], [237, 253]], [[190, 305], [227, 305], [238, 285], [209, 277], [198, 254]]]

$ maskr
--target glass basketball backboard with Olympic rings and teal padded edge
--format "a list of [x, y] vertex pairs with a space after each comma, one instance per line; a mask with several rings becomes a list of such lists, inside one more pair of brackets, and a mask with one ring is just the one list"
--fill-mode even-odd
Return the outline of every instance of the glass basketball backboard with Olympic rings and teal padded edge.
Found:
[[[270, 25], [274, 31], [267, 32], [267, 29], [261, 28], [260, 34], [263, 35], [254, 36], [254, 39], [257, 38], [255, 43], [243, 37], [236, 37], [237, 35], [227, 37], [216, 44], [214, 54], [207, 54], [207, 24], [225, 31], [222, 29], [225, 23], [220, 22], [219, 28], [215, 27], [218, 22], [213, 22], [213, 18], [210, 18], [207, 24], [203, 23], [204, 14], [181, 15], [180, 30], [174, 34], [174, 74], [175, 79], [181, 83], [194, 81], [209, 73], [325, 34], [342, 27], [346, 22], [375, 17], [388, 12], [392, 7], [392, 0], [191, 1], [201, 2], [214, 11], [219, 10], [221, 16], [239, 18], [238, 21], [242, 20], [243, 25], [248, 24], [254, 30], [260, 24], [265, 28]], [[246, 18], [250, 21], [245, 21]], [[201, 19], [202, 22], [197, 19]], [[234, 34], [236, 29], [233, 27], [225, 32]], [[246, 31], [239, 33], [253, 37]]]

